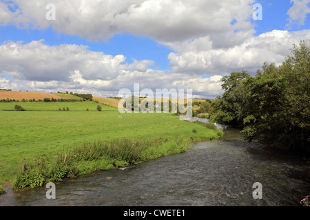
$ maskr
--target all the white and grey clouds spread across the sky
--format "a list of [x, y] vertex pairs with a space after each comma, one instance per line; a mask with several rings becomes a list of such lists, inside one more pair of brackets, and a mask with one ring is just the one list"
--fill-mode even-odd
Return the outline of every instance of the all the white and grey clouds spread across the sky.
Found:
[[[290, 22], [304, 22], [309, 1], [291, 0]], [[54, 3], [56, 20], [45, 19]], [[221, 94], [220, 78], [229, 72], [256, 72], [265, 61], [279, 65], [293, 43], [310, 31], [273, 30], [254, 36], [254, 0], [12, 0], [0, 2], [0, 25], [46, 29], [89, 41], [115, 34], [145, 35], [174, 52], [172, 71], [151, 69], [154, 61], [112, 56], [83, 45], [45, 45], [44, 41], [0, 45], [0, 87], [35, 91], [90, 92], [116, 96], [122, 88], [193, 89], [198, 96]], [[14, 10], [12, 10], [14, 8]], [[11, 76], [13, 79], [3, 78]], [[203, 78], [203, 76], [208, 76]], [[2, 78], [1, 78], [2, 77]]]

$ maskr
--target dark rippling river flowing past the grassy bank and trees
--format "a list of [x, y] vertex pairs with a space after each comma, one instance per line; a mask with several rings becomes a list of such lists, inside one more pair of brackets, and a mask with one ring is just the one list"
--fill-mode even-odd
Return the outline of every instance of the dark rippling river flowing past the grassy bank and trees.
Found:
[[[217, 126], [225, 132], [221, 140], [56, 183], [56, 199], [46, 198], [45, 187], [8, 188], [0, 206], [300, 206], [310, 195], [309, 164], [248, 143], [237, 129]], [[256, 182], [262, 199], [252, 195]]]

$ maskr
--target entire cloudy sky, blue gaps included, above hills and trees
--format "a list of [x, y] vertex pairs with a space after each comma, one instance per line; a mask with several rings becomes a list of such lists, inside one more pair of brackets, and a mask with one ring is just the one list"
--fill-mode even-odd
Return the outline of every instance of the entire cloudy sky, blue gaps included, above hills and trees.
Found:
[[[30, 91], [51, 91], [48, 89], [68, 89], [69, 87], [76, 89], [76, 91], [87, 90], [104, 95], [110, 94], [110, 92], [115, 93], [117, 89], [116, 87], [111, 89], [112, 85], [115, 85], [117, 81], [117, 85], [121, 86], [120, 82], [123, 82], [123, 78], [129, 77], [128, 82], [132, 83], [132, 78], [135, 78], [136, 81], [145, 83], [149, 87], [151, 85], [152, 87], [159, 86], [167, 82], [171, 82], [171, 84], [164, 84], [167, 87], [174, 85], [185, 86], [188, 81], [199, 82], [190, 85], [191, 87], [197, 87], [196, 94], [198, 96], [216, 96], [216, 94], [220, 93], [220, 76], [240, 69], [249, 69], [254, 72], [255, 69], [262, 65], [264, 58], [271, 58], [271, 62], [281, 63], [281, 57], [284, 58], [285, 55], [283, 53], [288, 52], [290, 49], [288, 47], [289, 43], [296, 42], [297, 39], [301, 38], [307, 39], [310, 27], [310, 2], [306, 0], [251, 1], [251, 3], [260, 3], [262, 5], [261, 21], [254, 21], [251, 16], [245, 17], [243, 14], [247, 13], [243, 10], [247, 5], [234, 0], [234, 2], [231, 1], [232, 7], [225, 6], [226, 8], [224, 8], [225, 10], [231, 10], [229, 24], [225, 23], [225, 19], [218, 17], [215, 9], [210, 9], [211, 4], [214, 3], [215, 5], [219, 2], [214, 0], [197, 1], [196, 8], [189, 8], [187, 3], [189, 5], [191, 3], [187, 0], [180, 1], [181, 5], [174, 5], [174, 1], [169, 0], [130, 0], [123, 4], [120, 4], [123, 1], [118, 0], [111, 1], [110, 8], [106, 10], [100, 8], [102, 7], [100, 6], [101, 2], [97, 1], [77, 0], [74, 1], [75, 4], [72, 3], [73, 1], [71, 3], [55, 1], [56, 21], [50, 23], [42, 19], [42, 15], [45, 13], [45, 11], [42, 11], [42, 4], [40, 5], [38, 1], [30, 1], [34, 2], [32, 8], [20, 0], [0, 1], [0, 10], [2, 8], [7, 13], [4, 13], [3, 17], [0, 15], [0, 46], [2, 45], [4, 48], [9, 42], [19, 45], [21, 47], [19, 55], [22, 57], [17, 59], [10, 56], [12, 50], [8, 50], [6, 52], [8, 54], [3, 54], [3, 57], [8, 58], [8, 61], [0, 67], [0, 79], [1, 77], [6, 79], [0, 80], [0, 87], [20, 87]], [[71, 4], [72, 8], [63, 8], [61, 4], [64, 2], [67, 3], [66, 6]], [[135, 5], [136, 2], [141, 4], [137, 6]], [[165, 7], [158, 4], [158, 2], [163, 2], [162, 5], [165, 3]], [[203, 11], [201, 9], [203, 6], [200, 5], [205, 5], [206, 2], [209, 5]], [[183, 7], [183, 5], [185, 6]], [[178, 6], [182, 7], [178, 8]], [[221, 6], [219, 5], [219, 7]], [[76, 12], [70, 14], [74, 10]], [[90, 10], [93, 14], [89, 13]], [[180, 10], [183, 11], [183, 14], [179, 13]], [[218, 10], [220, 9], [218, 8]], [[154, 14], [152, 14], [153, 11]], [[111, 13], [114, 13], [113, 16], [110, 16]], [[248, 13], [251, 13], [251, 10]], [[200, 14], [200, 17], [195, 16], [196, 14]], [[79, 20], [81, 16], [85, 17], [85, 22]], [[69, 19], [70, 23], [64, 25], [63, 22], [60, 22], [61, 19], [64, 19], [63, 21]], [[90, 23], [87, 19], [92, 22]], [[108, 23], [105, 23], [107, 20]], [[82, 22], [79, 23], [78, 21]], [[158, 23], [154, 21], [158, 21]], [[249, 25], [249, 23], [253, 25]], [[24, 28], [17, 28], [18, 25]], [[225, 28], [216, 30], [221, 25], [227, 30]], [[229, 25], [236, 25], [239, 28], [245, 27], [245, 30], [231, 30]], [[115, 31], [111, 31], [112, 26], [116, 27], [114, 28]], [[274, 32], [273, 30], [286, 30], [287, 32]], [[262, 41], [259, 37], [260, 34], [268, 34], [267, 41]], [[97, 38], [97, 40], [89, 40], [93, 37]], [[37, 43], [37, 47], [41, 48], [38, 49], [39, 53], [41, 53], [37, 54], [38, 56], [48, 57], [48, 59], [52, 60], [54, 58], [55, 60], [63, 60], [63, 58], [59, 57], [60, 54], [65, 53], [62, 51], [64, 47], [57, 46], [84, 45], [87, 46], [87, 51], [82, 47], [74, 49], [75, 53], [81, 53], [79, 58], [83, 57], [79, 61], [85, 62], [85, 65], [102, 63], [100, 57], [103, 57], [103, 54], [109, 55], [105, 56], [104, 59], [106, 62], [110, 62], [111, 72], [106, 63], [102, 68], [107, 69], [106, 72], [109, 72], [107, 74], [105, 74], [106, 72], [97, 74], [99, 70], [96, 68], [88, 70], [77, 65], [72, 66], [70, 64], [69, 67], [69, 64], [68, 66], [62, 64], [64, 69], [62, 73], [63, 79], [59, 76], [58, 78], [55, 77], [54, 80], [51, 77], [46, 77], [46, 80], [44, 77], [38, 77], [38, 80], [35, 80], [35, 76], [30, 76], [32, 72], [42, 72], [42, 74], [44, 72], [35, 63], [30, 64], [31, 62], [28, 63], [27, 61], [33, 59], [34, 56], [34, 54], [29, 54], [30, 46], [32, 47], [34, 41], [39, 42], [41, 39], [43, 41]], [[18, 43], [19, 41], [22, 41], [22, 43]], [[255, 43], [256, 41], [257, 43]], [[285, 45], [283, 41], [285, 41]], [[262, 55], [262, 43], [265, 45], [269, 56]], [[279, 43], [283, 44], [280, 49]], [[49, 48], [48, 50], [55, 50], [54, 56], [44, 54], [43, 47], [46, 46]], [[249, 47], [254, 48], [253, 51], [250, 51], [251, 56], [249, 54], [245, 56], [245, 53], [249, 51], [242, 52], [242, 50]], [[238, 60], [236, 54], [240, 54]], [[242, 58], [242, 56], [245, 56], [245, 58]], [[252, 56], [253, 60], [247, 61]], [[33, 62], [43, 63], [43, 58]], [[72, 63], [79, 63], [79, 61], [72, 61]], [[152, 65], [152, 62], [155, 65]], [[45, 67], [42, 68], [45, 69]], [[100, 66], [98, 68], [100, 69]], [[61, 70], [55, 68], [49, 72], [53, 73], [53, 71], [55, 71], [56, 75], [56, 71]], [[122, 74], [125, 74], [125, 76]], [[69, 78], [74, 78], [70, 85], [68, 85]], [[121, 80], [118, 81], [118, 78], [121, 78]], [[85, 82], [85, 80], [90, 80], [90, 85], [96, 83], [96, 88], [87, 87], [87, 83], [81, 83], [82, 81]], [[200, 89], [202, 81], [207, 89]], [[67, 84], [63, 82], [67, 82]], [[100, 87], [100, 83], [105, 86]], [[125, 83], [122, 85], [125, 86]], [[214, 89], [215, 87], [217, 89]]]

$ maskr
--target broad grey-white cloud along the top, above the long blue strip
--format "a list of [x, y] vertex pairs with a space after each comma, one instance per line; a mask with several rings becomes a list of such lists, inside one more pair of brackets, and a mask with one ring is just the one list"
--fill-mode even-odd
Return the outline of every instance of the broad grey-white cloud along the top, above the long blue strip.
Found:
[[[19, 12], [12, 12], [10, 16], [14, 25], [38, 29], [52, 25], [57, 32], [88, 40], [102, 41], [116, 33], [130, 32], [165, 42], [191, 40], [208, 34], [216, 43], [218, 36], [227, 38], [234, 35], [235, 30], [241, 33], [238, 34], [240, 41], [242, 35], [253, 33], [249, 17], [254, 0], [54, 0], [55, 21], [45, 19], [45, 6], [50, 0], [12, 2]], [[5, 7], [0, 5], [0, 8]]]

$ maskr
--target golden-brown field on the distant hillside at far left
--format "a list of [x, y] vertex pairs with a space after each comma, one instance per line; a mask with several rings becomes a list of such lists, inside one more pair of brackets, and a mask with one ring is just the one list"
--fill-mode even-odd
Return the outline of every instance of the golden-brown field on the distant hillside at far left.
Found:
[[21, 101], [22, 99], [30, 100], [43, 100], [44, 98], [61, 98], [54, 94], [48, 94], [43, 92], [32, 92], [32, 91], [1, 91], [0, 90], [0, 99], [14, 99]]

